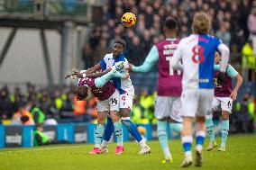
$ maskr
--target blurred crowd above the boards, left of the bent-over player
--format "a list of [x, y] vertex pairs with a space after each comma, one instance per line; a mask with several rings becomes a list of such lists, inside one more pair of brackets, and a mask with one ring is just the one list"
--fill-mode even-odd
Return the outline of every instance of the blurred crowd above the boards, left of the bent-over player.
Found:
[[28, 84], [25, 93], [19, 87], [11, 93], [7, 86], [0, 90], [0, 122], [5, 124], [56, 124], [88, 122], [96, 118], [96, 98], [78, 101], [75, 87], [36, 88]]

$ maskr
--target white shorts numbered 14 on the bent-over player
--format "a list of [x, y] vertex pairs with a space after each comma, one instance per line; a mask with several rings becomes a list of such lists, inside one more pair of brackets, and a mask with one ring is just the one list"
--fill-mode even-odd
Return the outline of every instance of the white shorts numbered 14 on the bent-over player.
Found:
[[116, 111], [119, 112], [119, 92], [115, 90], [105, 101], [97, 101], [97, 112]]

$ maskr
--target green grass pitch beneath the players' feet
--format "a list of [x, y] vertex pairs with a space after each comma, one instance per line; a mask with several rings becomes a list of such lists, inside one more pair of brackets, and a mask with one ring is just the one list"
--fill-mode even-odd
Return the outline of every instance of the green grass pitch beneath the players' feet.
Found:
[[[217, 139], [220, 143], [219, 138]], [[208, 141], [206, 140], [206, 144]], [[170, 149], [174, 157], [173, 164], [161, 164], [163, 158], [158, 141], [148, 142], [151, 154], [139, 156], [138, 143], [124, 143], [123, 155], [114, 156], [114, 144], [109, 147], [105, 155], [88, 154], [92, 145], [58, 145], [41, 148], [5, 148], [0, 149], [0, 170], [153, 170], [180, 169], [183, 152], [179, 140], [170, 142]], [[206, 145], [205, 145], [206, 148]], [[200, 169], [256, 169], [256, 135], [230, 136], [227, 150], [224, 153], [217, 148], [210, 152], [203, 152], [204, 165]], [[198, 169], [194, 165], [191, 168]]]

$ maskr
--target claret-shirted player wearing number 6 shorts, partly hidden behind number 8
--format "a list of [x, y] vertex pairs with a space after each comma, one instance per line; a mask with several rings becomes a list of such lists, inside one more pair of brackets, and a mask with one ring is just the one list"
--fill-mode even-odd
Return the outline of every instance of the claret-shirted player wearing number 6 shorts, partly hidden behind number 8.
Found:
[[[221, 56], [218, 52], [215, 52], [215, 98], [213, 102], [213, 111], [216, 111], [221, 105], [222, 108], [222, 143], [218, 151], [225, 151], [225, 143], [229, 130], [229, 114], [232, 112], [232, 103], [236, 99], [237, 92], [242, 85], [242, 76], [231, 66], [227, 66], [226, 76], [224, 82], [219, 83], [218, 75], [220, 74], [220, 62]], [[236, 85], [232, 87], [232, 79], [236, 79]], [[206, 130], [210, 139], [210, 143], [206, 148], [207, 151], [217, 147], [215, 142], [215, 130], [214, 123], [212, 121], [212, 113], [206, 115]]]

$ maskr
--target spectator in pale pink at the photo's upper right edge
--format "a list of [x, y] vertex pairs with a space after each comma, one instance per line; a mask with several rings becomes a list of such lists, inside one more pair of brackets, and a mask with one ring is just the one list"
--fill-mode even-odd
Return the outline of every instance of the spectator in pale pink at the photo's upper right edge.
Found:
[[248, 17], [247, 25], [248, 30], [250, 31], [254, 56], [256, 56], [256, 6], [253, 6], [251, 9], [251, 14]]

